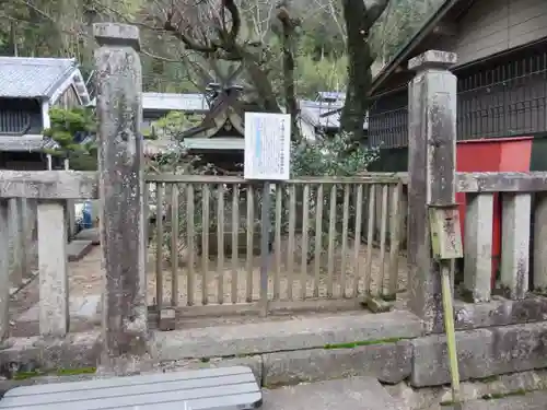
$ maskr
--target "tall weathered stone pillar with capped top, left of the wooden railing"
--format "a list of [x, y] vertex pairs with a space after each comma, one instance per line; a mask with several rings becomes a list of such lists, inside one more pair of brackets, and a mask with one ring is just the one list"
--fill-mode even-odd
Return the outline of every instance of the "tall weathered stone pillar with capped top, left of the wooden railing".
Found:
[[139, 30], [100, 23], [97, 71], [100, 231], [106, 289], [103, 360], [147, 351], [142, 74]]

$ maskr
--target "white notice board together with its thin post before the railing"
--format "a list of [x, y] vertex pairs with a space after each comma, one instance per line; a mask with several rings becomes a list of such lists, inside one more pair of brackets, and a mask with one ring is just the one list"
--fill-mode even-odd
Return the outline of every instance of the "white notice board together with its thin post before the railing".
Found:
[[[288, 180], [290, 174], [291, 116], [288, 114], [245, 113], [245, 179], [263, 180], [260, 215], [260, 314], [268, 313], [268, 266], [270, 254], [271, 188]], [[247, 221], [253, 223], [253, 221]], [[279, 249], [278, 249], [279, 251]]]

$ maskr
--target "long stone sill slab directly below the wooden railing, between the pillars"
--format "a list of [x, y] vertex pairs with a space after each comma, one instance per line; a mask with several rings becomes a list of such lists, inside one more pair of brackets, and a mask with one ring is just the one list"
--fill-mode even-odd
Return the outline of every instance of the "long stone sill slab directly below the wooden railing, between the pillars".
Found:
[[407, 312], [338, 314], [154, 332], [151, 353], [160, 361], [172, 361], [323, 349], [327, 344], [408, 339], [420, 335], [420, 321]]

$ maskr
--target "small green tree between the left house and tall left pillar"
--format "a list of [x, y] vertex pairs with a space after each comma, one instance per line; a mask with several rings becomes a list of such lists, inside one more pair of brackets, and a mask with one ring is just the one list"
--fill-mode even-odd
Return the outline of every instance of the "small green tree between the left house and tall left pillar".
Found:
[[95, 171], [97, 147], [94, 142], [80, 144], [74, 141], [78, 133], [96, 131], [95, 115], [89, 108], [51, 108], [51, 127], [44, 130], [44, 136], [59, 144], [58, 149], [47, 150], [48, 154], [68, 159], [70, 168], [75, 171]]

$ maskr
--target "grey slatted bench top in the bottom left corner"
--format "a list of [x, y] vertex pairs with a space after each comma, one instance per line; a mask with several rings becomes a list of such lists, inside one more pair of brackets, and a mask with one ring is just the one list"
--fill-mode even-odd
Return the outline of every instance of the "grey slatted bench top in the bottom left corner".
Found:
[[263, 403], [248, 367], [220, 367], [15, 387], [0, 409], [251, 410]]

